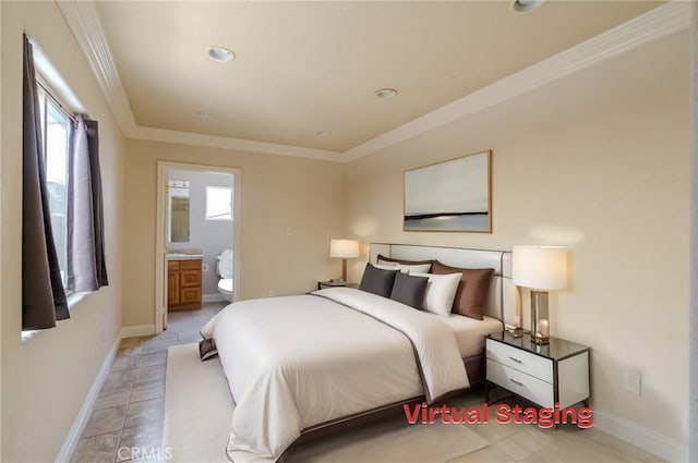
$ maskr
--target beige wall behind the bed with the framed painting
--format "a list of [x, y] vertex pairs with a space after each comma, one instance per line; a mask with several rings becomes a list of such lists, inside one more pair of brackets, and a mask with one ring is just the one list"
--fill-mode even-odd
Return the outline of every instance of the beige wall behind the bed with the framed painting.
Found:
[[[571, 287], [551, 298], [552, 334], [591, 346], [597, 423], [625, 419], [679, 453], [688, 432], [688, 36], [674, 35], [347, 171], [348, 227], [363, 242], [569, 246]], [[493, 150], [492, 234], [404, 232], [404, 171], [483, 149]], [[351, 268], [356, 280], [361, 263]], [[624, 368], [641, 373], [641, 397], [624, 390]]]

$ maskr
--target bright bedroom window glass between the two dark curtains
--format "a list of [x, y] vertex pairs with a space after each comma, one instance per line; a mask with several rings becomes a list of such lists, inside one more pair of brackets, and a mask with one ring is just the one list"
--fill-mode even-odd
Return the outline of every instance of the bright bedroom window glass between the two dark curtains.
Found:
[[56, 99], [37, 82], [41, 113], [41, 141], [53, 241], [58, 252], [63, 287], [68, 277], [68, 153], [73, 127]]

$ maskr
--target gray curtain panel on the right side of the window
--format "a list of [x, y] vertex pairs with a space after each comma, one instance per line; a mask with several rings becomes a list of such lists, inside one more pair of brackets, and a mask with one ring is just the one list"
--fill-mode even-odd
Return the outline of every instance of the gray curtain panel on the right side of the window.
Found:
[[91, 292], [109, 284], [96, 121], [76, 118], [69, 169], [67, 287], [75, 292]]

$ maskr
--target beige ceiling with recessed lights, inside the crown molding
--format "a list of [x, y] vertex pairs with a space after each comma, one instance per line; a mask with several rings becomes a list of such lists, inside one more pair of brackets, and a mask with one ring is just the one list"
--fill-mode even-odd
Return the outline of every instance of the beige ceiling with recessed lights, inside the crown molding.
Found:
[[137, 126], [337, 156], [660, 4], [95, 2]]

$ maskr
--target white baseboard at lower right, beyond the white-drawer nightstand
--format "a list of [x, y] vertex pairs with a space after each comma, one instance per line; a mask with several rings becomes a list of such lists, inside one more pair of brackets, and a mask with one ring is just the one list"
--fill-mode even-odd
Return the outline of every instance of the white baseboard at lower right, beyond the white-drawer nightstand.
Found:
[[594, 409], [593, 426], [669, 462], [688, 461], [688, 447], [612, 413]]

